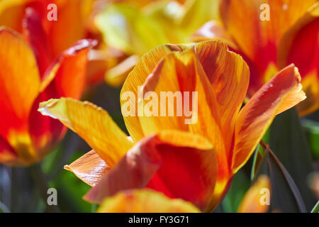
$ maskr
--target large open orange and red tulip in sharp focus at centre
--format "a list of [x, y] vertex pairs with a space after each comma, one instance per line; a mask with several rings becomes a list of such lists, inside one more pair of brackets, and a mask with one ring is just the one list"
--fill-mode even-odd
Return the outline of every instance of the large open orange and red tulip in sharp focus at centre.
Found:
[[240, 109], [249, 78], [245, 61], [223, 43], [162, 45], [141, 57], [125, 80], [122, 99], [125, 92], [138, 96], [138, 86], [145, 95], [197, 92], [196, 123], [185, 124], [177, 110], [169, 117], [128, 116], [128, 104], [148, 102], [121, 99], [128, 138], [106, 111], [88, 102], [51, 99], [40, 111], [94, 149], [66, 167], [94, 186], [84, 199], [99, 203], [123, 189], [147, 187], [211, 211], [276, 114], [306, 98], [298, 70], [290, 65]]

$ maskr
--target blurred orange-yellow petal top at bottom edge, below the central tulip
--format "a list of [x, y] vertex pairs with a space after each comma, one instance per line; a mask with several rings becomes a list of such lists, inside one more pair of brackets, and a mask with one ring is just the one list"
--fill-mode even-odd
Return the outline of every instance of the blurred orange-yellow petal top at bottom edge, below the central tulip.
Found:
[[103, 200], [98, 213], [198, 213], [193, 204], [182, 199], [169, 199], [164, 194], [139, 189], [119, 192]]

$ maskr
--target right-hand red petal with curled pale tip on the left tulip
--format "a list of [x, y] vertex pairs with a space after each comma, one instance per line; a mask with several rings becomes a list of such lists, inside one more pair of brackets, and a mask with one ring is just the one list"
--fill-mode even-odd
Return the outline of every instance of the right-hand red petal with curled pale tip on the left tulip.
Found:
[[92, 40], [75, 43], [52, 62], [43, 76], [41, 93], [33, 104], [29, 118], [29, 133], [39, 157], [44, 157], [66, 130], [56, 119], [42, 116], [38, 106], [42, 101], [61, 96], [81, 97], [86, 80], [87, 52], [94, 44]]

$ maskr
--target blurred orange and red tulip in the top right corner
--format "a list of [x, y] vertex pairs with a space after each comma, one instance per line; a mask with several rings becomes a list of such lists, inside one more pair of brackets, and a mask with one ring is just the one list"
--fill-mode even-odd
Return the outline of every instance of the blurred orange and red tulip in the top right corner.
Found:
[[225, 40], [240, 53], [250, 66], [250, 96], [276, 72], [295, 64], [308, 96], [297, 106], [305, 115], [319, 108], [318, 16], [318, 0], [225, 0], [220, 4], [223, 23], [206, 23], [193, 40]]

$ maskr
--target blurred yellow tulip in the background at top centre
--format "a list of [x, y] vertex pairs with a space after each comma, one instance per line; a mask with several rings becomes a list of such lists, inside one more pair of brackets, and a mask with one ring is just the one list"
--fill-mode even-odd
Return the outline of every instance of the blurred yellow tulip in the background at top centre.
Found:
[[94, 18], [105, 43], [133, 56], [106, 72], [106, 83], [115, 87], [123, 84], [139, 56], [157, 45], [188, 43], [191, 33], [217, 18], [218, 0], [158, 0], [144, 7], [133, 2], [115, 1]]

